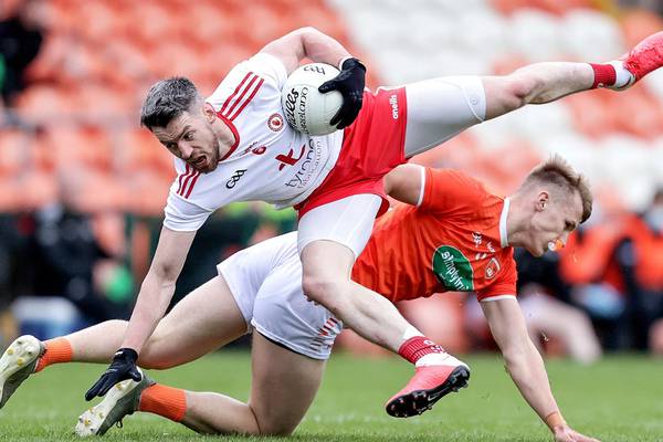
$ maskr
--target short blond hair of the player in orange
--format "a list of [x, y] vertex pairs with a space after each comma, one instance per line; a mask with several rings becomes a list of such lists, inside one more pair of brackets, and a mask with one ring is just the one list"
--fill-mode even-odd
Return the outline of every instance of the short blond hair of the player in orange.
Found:
[[523, 185], [520, 185], [520, 188], [528, 188], [533, 183], [551, 183], [565, 193], [577, 191], [582, 200], [582, 218], [580, 222], [587, 221], [591, 214], [593, 198], [587, 177], [577, 172], [561, 156], [555, 154], [532, 169], [525, 181], [523, 181]]

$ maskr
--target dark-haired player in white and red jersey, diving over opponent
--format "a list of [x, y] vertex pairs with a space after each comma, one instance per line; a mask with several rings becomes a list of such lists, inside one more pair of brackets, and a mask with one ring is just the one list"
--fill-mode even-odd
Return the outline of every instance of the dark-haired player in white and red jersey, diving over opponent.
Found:
[[[157, 83], [144, 103], [141, 123], [185, 162], [179, 162], [167, 220], [122, 348], [86, 397], [140, 377], [138, 352], [164, 316], [207, 215], [230, 201], [263, 199], [297, 203], [304, 293], [359, 335], [417, 366], [388, 412], [407, 417], [430, 409], [448, 378], [446, 355], [386, 298], [350, 280], [375, 218], [386, 206], [382, 177], [413, 155], [525, 104], [600, 86], [627, 88], [663, 64], [662, 46], [663, 33], [657, 33], [623, 60], [607, 64], [538, 63], [503, 77], [439, 77], [372, 94], [364, 91], [366, 69], [357, 59], [332, 38], [304, 28], [235, 67], [211, 103], [186, 78]], [[278, 112], [280, 85], [306, 57], [340, 67], [319, 91], [341, 93], [344, 104], [332, 124], [344, 130], [319, 138], [319, 146], [318, 138], [304, 143], [305, 137], [283, 127]], [[277, 126], [283, 128], [274, 130]], [[319, 152], [320, 162], [306, 164], [318, 147], [327, 150]], [[301, 183], [298, 170], [311, 172]]]

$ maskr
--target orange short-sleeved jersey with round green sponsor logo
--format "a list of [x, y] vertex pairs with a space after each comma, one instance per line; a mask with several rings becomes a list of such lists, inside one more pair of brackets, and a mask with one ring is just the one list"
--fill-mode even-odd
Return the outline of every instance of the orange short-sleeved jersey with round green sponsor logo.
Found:
[[516, 295], [508, 200], [457, 170], [425, 168], [424, 177], [419, 207], [398, 204], [377, 220], [352, 280], [392, 302], [446, 291]]

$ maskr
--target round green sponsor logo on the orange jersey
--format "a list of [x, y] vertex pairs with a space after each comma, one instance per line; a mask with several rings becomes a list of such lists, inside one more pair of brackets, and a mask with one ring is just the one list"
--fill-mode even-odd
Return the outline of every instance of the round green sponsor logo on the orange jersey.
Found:
[[474, 272], [470, 260], [456, 248], [441, 245], [433, 253], [433, 273], [446, 290], [472, 292]]

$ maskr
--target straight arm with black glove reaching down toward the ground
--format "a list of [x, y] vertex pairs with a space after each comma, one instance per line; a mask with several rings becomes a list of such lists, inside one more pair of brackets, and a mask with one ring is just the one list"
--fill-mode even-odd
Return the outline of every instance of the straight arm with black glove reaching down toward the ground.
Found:
[[166, 227], [161, 229], [157, 251], [140, 286], [122, 348], [115, 354], [108, 369], [87, 391], [86, 400], [106, 394], [110, 387], [122, 380], [129, 378], [140, 380], [140, 373], [136, 369], [138, 354], [172, 299], [175, 283], [185, 265], [194, 236], [194, 231], [176, 232]]

